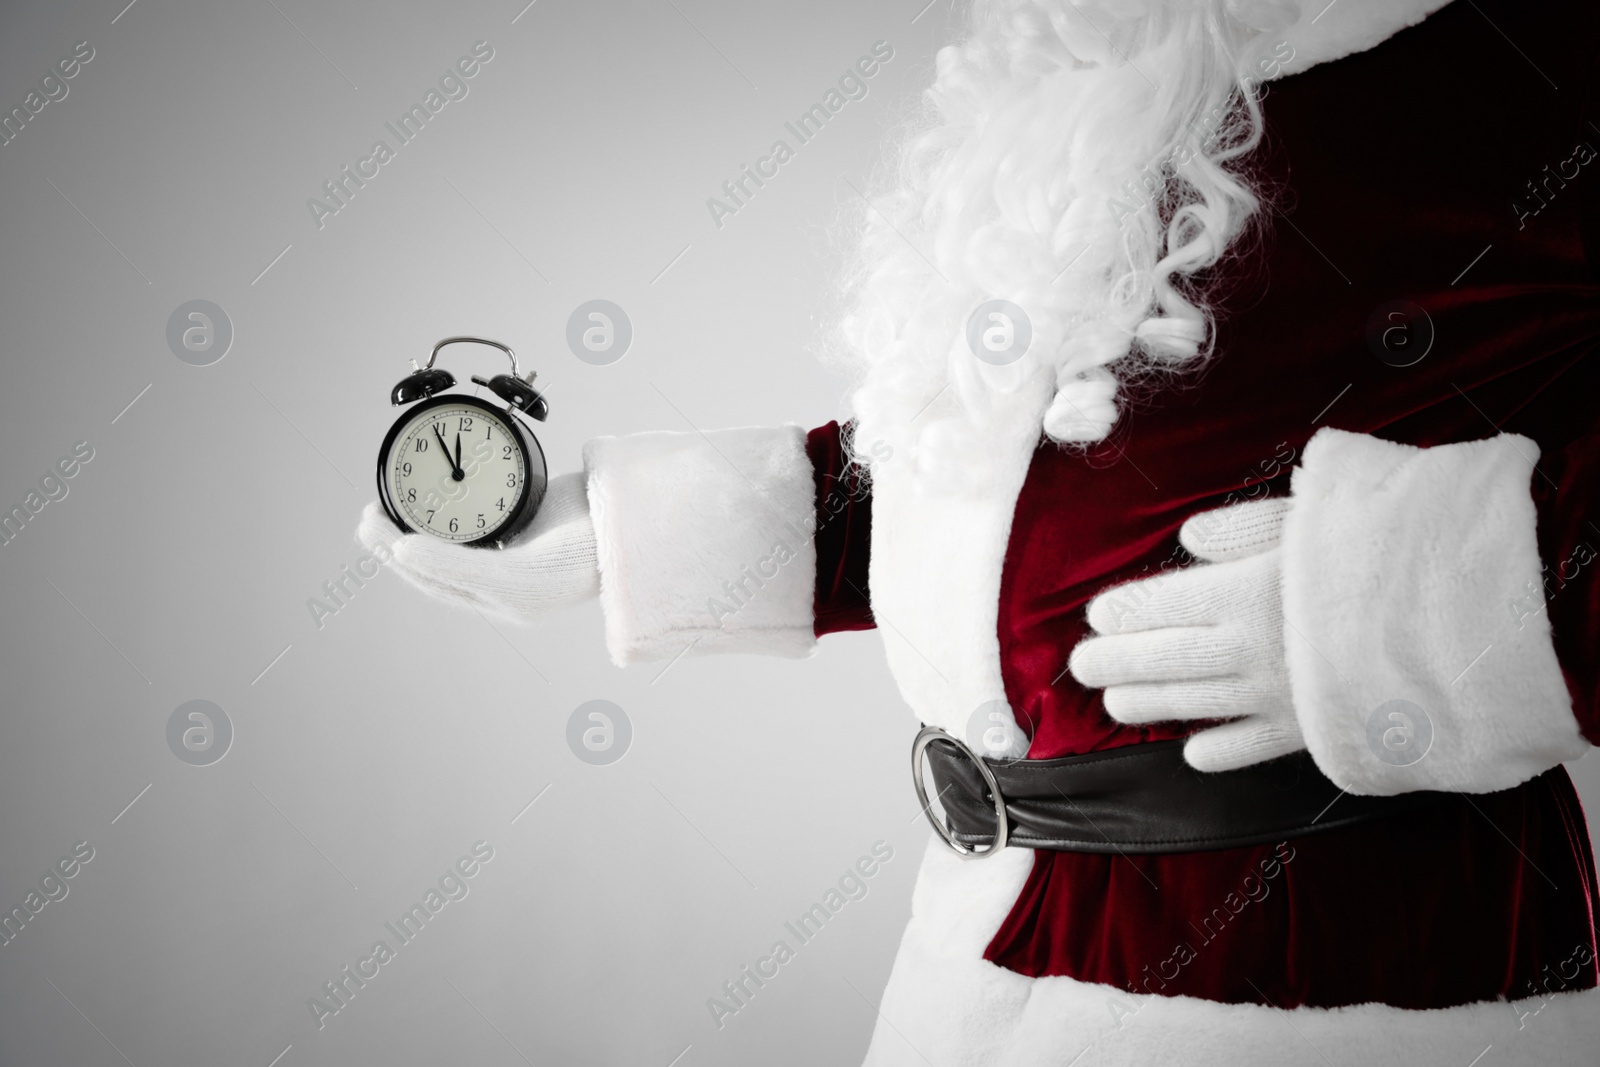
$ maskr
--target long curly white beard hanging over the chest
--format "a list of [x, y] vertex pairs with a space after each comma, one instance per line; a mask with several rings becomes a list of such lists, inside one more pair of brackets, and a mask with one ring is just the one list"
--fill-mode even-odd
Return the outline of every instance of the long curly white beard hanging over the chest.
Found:
[[[1131, 381], [1205, 360], [1197, 275], [1258, 213], [1238, 166], [1261, 138], [1254, 77], [1298, 18], [1288, 0], [971, 6], [842, 280], [830, 350], [853, 373], [864, 462], [886, 442], [946, 478], [1018, 418], [1008, 397], [1050, 389], [1043, 434], [1098, 442]], [[1005, 366], [968, 349], [990, 299], [1032, 328]]]

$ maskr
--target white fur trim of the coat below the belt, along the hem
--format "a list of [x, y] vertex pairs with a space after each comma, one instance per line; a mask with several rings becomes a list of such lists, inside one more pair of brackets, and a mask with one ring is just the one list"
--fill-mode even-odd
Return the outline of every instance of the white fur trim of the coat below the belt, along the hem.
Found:
[[1467, 1067], [1491, 1045], [1485, 1065], [1578, 1067], [1600, 1048], [1600, 990], [1430, 1011], [1282, 1011], [1024, 977], [982, 952], [1032, 856], [962, 861], [930, 840], [864, 1067]]

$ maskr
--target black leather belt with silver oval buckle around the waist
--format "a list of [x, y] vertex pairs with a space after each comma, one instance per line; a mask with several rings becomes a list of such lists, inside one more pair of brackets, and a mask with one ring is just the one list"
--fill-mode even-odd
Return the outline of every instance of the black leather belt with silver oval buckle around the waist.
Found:
[[[946, 813], [942, 821], [930, 806], [923, 753]], [[910, 765], [933, 829], [970, 857], [992, 856], [1006, 845], [1069, 853], [1203, 853], [1267, 845], [1386, 819], [1451, 797], [1350, 795], [1317, 769], [1309, 752], [1237, 771], [1197, 771], [1184, 763], [1182, 741], [1056, 760], [990, 760], [978, 758], [938, 726], [925, 726], [912, 745]]]

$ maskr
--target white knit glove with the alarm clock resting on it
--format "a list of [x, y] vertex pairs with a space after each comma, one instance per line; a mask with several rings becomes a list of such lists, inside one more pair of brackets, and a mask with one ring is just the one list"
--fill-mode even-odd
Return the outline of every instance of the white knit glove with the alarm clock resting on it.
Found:
[[362, 512], [357, 537], [422, 592], [506, 619], [530, 617], [600, 592], [595, 528], [582, 474], [550, 478], [544, 501], [504, 549], [469, 549], [402, 533], [376, 501]]

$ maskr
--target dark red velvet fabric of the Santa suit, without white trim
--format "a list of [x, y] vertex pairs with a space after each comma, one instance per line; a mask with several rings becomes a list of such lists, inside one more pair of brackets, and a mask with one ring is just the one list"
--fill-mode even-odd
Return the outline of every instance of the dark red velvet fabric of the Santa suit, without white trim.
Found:
[[[1067, 673], [1085, 605], [1179, 558], [1187, 517], [1288, 493], [1323, 426], [1419, 446], [1502, 430], [1539, 443], [1555, 649], [1600, 742], [1600, 566], [1582, 563], [1600, 549], [1597, 30], [1594, 5], [1458, 3], [1270, 88], [1253, 165], [1272, 206], [1259, 243], [1213, 278], [1214, 360], [1133, 405], [1088, 454], [1043, 443], [1018, 498], [998, 638], [1032, 758], [1187, 731], [1122, 726]], [[1510, 42], [1539, 42], [1538, 66]], [[1395, 301], [1430, 330], [1379, 312]], [[1389, 328], [1390, 347], [1430, 331], [1427, 355], [1379, 358]], [[822, 509], [838, 499], [838, 426], [813, 430], [808, 451], [816, 632], [870, 627], [870, 494], [848, 485], [843, 510]], [[1267, 865], [1269, 891], [1246, 891]], [[1594, 987], [1597, 902], [1584, 816], [1557, 768], [1286, 853], [1040, 851], [986, 955], [1162, 995], [1442, 1008]]]

